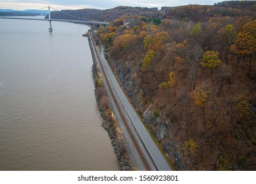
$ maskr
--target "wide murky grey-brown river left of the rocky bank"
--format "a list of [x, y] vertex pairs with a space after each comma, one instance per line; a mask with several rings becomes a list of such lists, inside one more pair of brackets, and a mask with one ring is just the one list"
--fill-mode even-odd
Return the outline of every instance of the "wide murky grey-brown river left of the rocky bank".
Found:
[[0, 170], [118, 170], [88, 26], [0, 19]]

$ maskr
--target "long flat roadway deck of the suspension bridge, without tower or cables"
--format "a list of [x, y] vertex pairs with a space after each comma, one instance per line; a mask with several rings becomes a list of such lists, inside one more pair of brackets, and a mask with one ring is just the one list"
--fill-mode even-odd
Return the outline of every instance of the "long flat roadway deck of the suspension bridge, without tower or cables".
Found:
[[[18, 18], [18, 17], [9, 17], [9, 16], [0, 16], [0, 18], [50, 21], [49, 19], [46, 19], [46, 18]], [[91, 21], [91, 20], [67, 20], [67, 19], [56, 19], [56, 18], [51, 18], [51, 21], [72, 22], [72, 23], [78, 23], [78, 24], [107, 24], [107, 22], [99, 22], [99, 21]]]

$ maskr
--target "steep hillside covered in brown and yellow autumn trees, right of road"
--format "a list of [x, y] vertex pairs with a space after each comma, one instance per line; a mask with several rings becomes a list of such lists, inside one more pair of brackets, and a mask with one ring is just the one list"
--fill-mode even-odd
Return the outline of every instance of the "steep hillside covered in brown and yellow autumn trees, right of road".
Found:
[[95, 28], [178, 170], [256, 170], [256, 3], [229, 3], [125, 14]]

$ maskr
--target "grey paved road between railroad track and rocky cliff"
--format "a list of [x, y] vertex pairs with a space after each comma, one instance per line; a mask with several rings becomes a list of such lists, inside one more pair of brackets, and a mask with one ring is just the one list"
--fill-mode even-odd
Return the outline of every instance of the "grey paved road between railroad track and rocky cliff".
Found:
[[[90, 34], [91, 36], [91, 34]], [[92, 37], [91, 40], [93, 41]], [[101, 70], [105, 70], [105, 73], [107, 74], [107, 80], [109, 80], [111, 84], [111, 88], [113, 91], [115, 91], [115, 95], [118, 99], [118, 103], [121, 107], [122, 112], [124, 114], [124, 117], [126, 118], [128, 124], [132, 126], [131, 129], [135, 129], [135, 134], [137, 134], [136, 137], [138, 137], [138, 142], [141, 142], [140, 145], [144, 147], [144, 150], [146, 151], [145, 154], [148, 154], [150, 163], [153, 163], [153, 166], [155, 167], [155, 170], [159, 171], [170, 171], [170, 167], [168, 166], [165, 158], [161, 154], [160, 150], [158, 149], [157, 145], [155, 145], [155, 142], [149, 135], [147, 129], [145, 129], [145, 126], [141, 122], [138, 114], [135, 112], [134, 108], [128, 101], [126, 95], [124, 95], [124, 92], [122, 91], [118, 81], [116, 81], [116, 78], [107, 63], [107, 60], [104, 57], [104, 49], [101, 47], [101, 51], [99, 49], [96, 49], [98, 53], [100, 53], [100, 60], [99, 62], [102, 63], [103, 68]], [[100, 65], [99, 65], [100, 66]]]

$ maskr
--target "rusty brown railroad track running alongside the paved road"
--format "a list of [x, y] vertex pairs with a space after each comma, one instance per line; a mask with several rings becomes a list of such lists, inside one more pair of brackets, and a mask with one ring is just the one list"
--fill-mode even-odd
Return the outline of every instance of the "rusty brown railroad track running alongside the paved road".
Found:
[[91, 32], [90, 32], [89, 36], [91, 38], [91, 43], [93, 45], [93, 49], [94, 49], [94, 51], [96, 53], [97, 59], [99, 60], [99, 64], [101, 66], [101, 69], [102, 69], [102, 72], [103, 72], [103, 76], [105, 78], [107, 86], [109, 87], [109, 91], [111, 93], [112, 99], [113, 99], [113, 101], [114, 101], [114, 103], [116, 105], [116, 109], [118, 110], [118, 112], [120, 114], [120, 118], [122, 119], [122, 122], [124, 122], [124, 126], [126, 127], [126, 130], [127, 130], [128, 134], [130, 135], [130, 138], [132, 139], [132, 143], [134, 143], [134, 147], [136, 148], [138, 154], [140, 155], [140, 158], [141, 158], [141, 161], [143, 162], [145, 170], [151, 171], [151, 166], [147, 162], [147, 158], [145, 158], [145, 155], [143, 154], [138, 141], [136, 140], [134, 134], [132, 133], [132, 130], [130, 129], [130, 126], [128, 125], [128, 122], [127, 122], [126, 118], [124, 118], [124, 114], [122, 113], [122, 110], [120, 108], [120, 104], [117, 102], [117, 99], [116, 99], [116, 96], [114, 94], [114, 91], [113, 91], [113, 89], [111, 87], [109, 79], [107, 78], [107, 74], [105, 73], [105, 70], [103, 70], [103, 64], [101, 63], [101, 58], [99, 57], [99, 53], [97, 53], [97, 49], [96, 49], [94, 41], [93, 41], [93, 39], [91, 37]]

